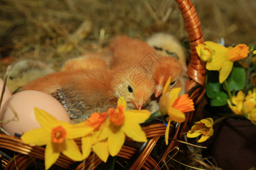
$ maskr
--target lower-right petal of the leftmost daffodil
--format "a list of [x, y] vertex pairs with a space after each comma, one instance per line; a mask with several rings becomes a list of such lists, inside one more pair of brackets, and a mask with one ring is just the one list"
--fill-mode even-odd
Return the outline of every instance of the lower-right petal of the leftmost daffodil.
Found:
[[76, 142], [72, 139], [65, 139], [65, 148], [61, 151], [63, 155], [66, 155], [68, 158], [81, 161], [82, 154], [79, 150], [79, 147], [76, 145]]

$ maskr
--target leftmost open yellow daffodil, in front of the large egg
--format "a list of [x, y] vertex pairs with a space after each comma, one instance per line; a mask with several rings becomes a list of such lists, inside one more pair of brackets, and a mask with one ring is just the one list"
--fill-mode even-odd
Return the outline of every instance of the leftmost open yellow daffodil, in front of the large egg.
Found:
[[21, 137], [24, 143], [37, 146], [46, 145], [45, 168], [49, 169], [59, 158], [60, 153], [75, 161], [82, 160], [82, 154], [75, 138], [80, 138], [93, 131], [89, 126], [80, 128], [68, 122], [58, 121], [42, 109], [35, 108], [35, 117], [42, 128], [32, 129]]

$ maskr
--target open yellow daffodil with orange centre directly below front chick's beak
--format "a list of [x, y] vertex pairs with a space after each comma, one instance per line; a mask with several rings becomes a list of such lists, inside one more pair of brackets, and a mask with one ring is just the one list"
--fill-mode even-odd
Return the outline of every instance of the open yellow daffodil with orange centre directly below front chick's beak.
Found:
[[[125, 135], [137, 142], [147, 142], [147, 137], [141, 129], [140, 123], [147, 120], [150, 112], [146, 110], [126, 111], [126, 101], [120, 97], [117, 109], [108, 110], [109, 119], [100, 128], [98, 140], [108, 138], [109, 154], [115, 156], [125, 143]], [[101, 130], [102, 129], [102, 130]]]

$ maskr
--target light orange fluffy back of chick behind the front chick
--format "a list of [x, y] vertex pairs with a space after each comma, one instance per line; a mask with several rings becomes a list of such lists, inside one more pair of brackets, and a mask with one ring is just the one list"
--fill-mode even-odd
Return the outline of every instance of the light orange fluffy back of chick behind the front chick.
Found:
[[106, 69], [109, 67], [110, 54], [108, 52], [89, 52], [81, 57], [66, 61], [61, 71], [74, 71], [80, 69]]

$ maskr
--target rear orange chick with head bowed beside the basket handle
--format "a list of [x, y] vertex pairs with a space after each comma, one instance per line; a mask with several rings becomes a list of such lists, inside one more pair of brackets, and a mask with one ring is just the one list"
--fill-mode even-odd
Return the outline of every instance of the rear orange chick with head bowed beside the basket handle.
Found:
[[117, 36], [110, 42], [110, 50], [113, 52], [111, 67], [119, 65], [138, 65], [152, 74], [155, 83], [155, 97], [163, 92], [164, 84], [171, 76], [170, 88], [180, 87], [182, 74], [181, 63], [175, 57], [163, 57], [147, 42], [131, 39], [127, 36]]

